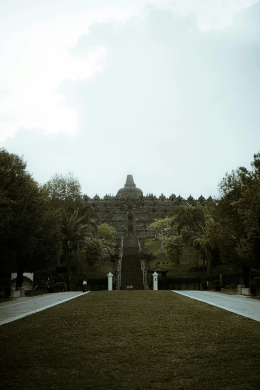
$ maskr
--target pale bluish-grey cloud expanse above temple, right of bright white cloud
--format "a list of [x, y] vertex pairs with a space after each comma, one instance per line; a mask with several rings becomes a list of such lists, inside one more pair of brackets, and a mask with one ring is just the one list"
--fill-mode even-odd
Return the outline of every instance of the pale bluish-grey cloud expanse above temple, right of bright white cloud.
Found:
[[69, 71], [68, 79], [61, 69], [66, 80], [57, 88], [54, 66], [51, 81], [65, 99], [56, 107], [77, 113], [78, 130], [22, 129], [7, 149], [24, 154], [40, 182], [70, 170], [92, 196], [115, 194], [129, 164], [144, 193], [215, 195], [225, 172], [250, 167], [260, 144], [259, 15], [256, 4], [231, 27], [207, 33], [194, 15], [151, 6], [124, 23], [92, 24], [70, 59], [84, 63], [86, 53], [106, 47], [95, 63], [102, 70], [86, 78]]

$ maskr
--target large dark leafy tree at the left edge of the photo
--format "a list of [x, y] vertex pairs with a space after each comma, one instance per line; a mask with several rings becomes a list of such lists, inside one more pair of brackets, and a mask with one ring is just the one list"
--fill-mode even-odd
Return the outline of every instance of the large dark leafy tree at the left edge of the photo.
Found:
[[[46, 190], [26, 171], [16, 154], [0, 149], [1, 268], [23, 272], [55, 263], [60, 251], [60, 216], [50, 207]], [[3, 228], [3, 230], [2, 230]]]

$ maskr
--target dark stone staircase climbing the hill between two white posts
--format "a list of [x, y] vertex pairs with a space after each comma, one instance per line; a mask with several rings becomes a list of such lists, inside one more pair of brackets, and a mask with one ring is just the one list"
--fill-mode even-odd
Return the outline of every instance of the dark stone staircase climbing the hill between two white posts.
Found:
[[120, 289], [128, 290], [127, 286], [132, 286], [132, 290], [143, 290], [138, 240], [134, 234], [124, 239]]

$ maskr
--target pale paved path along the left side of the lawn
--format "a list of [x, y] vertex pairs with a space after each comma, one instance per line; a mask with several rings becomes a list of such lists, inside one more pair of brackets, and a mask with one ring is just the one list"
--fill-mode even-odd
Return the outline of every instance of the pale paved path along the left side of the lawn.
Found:
[[43, 294], [39, 297], [22, 297], [13, 301], [7, 300], [6, 302], [0, 303], [0, 325], [18, 320], [26, 315], [37, 313], [38, 311], [77, 298], [83, 294], [88, 294], [88, 292], [57, 292]]

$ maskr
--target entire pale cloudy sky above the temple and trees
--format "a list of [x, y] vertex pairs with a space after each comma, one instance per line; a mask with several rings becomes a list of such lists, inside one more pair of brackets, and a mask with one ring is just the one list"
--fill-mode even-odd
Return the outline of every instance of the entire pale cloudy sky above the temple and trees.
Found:
[[0, 146], [40, 184], [197, 199], [260, 151], [259, 0], [0, 0]]

